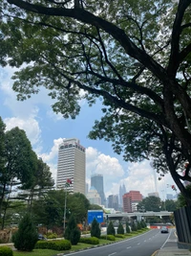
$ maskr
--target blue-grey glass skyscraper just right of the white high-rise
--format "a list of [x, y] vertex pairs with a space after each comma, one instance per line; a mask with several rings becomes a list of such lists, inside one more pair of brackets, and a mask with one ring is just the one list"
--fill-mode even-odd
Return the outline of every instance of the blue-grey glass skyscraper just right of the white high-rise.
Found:
[[91, 186], [96, 188], [100, 198], [101, 204], [105, 205], [105, 194], [103, 189], [103, 175], [92, 175], [91, 176]]

